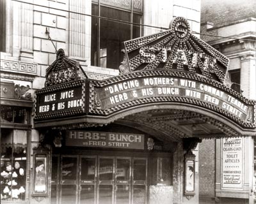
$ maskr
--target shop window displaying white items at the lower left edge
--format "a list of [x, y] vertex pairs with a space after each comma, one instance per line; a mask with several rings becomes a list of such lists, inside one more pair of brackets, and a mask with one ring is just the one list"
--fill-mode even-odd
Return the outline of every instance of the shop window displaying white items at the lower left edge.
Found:
[[1, 129], [1, 200], [26, 200], [27, 131]]

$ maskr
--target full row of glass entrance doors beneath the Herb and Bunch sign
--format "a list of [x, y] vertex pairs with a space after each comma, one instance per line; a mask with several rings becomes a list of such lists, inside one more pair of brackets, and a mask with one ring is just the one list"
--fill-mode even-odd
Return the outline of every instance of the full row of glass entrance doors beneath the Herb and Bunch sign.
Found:
[[145, 204], [147, 158], [53, 156], [51, 184], [52, 204]]

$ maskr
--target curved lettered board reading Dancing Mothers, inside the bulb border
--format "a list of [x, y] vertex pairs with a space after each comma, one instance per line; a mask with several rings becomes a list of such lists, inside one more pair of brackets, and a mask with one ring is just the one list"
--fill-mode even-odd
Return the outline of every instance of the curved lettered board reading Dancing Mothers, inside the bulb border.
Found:
[[248, 116], [253, 115], [253, 108], [223, 89], [196, 80], [168, 76], [140, 77], [99, 87], [95, 90], [98, 94], [97, 104], [99, 107], [97, 108], [103, 110], [123, 103], [131, 104], [134, 100], [146, 102], [150, 99], [161, 101], [161, 98], [179, 97], [177, 102], [202, 101], [207, 106], [216, 106], [219, 110], [223, 110], [223, 113], [234, 115], [239, 120], [252, 122], [250, 121], [252, 118], [249, 119]]

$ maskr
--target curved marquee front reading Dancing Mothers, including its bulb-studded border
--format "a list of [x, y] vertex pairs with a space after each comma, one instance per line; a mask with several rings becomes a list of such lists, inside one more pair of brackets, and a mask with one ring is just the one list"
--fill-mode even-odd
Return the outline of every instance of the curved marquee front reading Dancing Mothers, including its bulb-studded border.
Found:
[[109, 84], [92, 82], [90, 112], [108, 115], [146, 103], [180, 102], [209, 108], [245, 126], [252, 122], [254, 104], [251, 101], [223, 84], [212, 84], [211, 80], [185, 73], [180, 75], [178, 71], [141, 71], [125, 80], [116, 77], [115, 83], [111, 83], [111, 79]]

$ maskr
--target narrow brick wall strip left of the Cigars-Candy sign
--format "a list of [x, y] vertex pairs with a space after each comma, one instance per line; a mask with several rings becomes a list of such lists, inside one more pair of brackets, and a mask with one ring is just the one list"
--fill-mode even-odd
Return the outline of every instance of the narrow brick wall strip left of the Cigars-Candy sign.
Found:
[[199, 203], [215, 203], [215, 140], [203, 140], [199, 152]]

